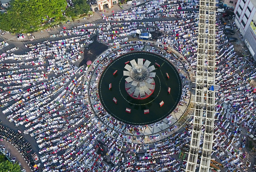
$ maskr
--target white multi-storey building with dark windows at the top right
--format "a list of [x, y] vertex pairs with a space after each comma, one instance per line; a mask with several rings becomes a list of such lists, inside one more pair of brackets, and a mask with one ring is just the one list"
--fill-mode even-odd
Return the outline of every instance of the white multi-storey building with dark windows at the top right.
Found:
[[256, 0], [238, 0], [234, 13], [236, 25], [256, 60]]

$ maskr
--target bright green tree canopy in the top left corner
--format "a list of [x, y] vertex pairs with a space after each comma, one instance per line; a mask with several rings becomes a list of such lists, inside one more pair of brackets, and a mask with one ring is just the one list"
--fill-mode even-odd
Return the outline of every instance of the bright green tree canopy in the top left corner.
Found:
[[45, 20], [62, 17], [66, 0], [11, 0], [7, 12], [0, 14], [0, 29], [30, 31]]

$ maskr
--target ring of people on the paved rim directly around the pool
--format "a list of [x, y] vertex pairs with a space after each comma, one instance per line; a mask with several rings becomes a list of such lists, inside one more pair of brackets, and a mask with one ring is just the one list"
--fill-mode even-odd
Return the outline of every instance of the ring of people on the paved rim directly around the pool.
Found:
[[[100, 99], [98, 97], [98, 81], [99, 81], [99, 78], [100, 78], [102, 72], [106, 68], [106, 66], [108, 66], [108, 64], [111, 63], [111, 61], [113, 61], [115, 58], [118, 58], [120, 55], [131, 52], [131, 49], [133, 49], [132, 51], [142, 51], [144, 48], [146, 48], [146, 51], [162, 55], [164, 58], [173, 62], [174, 65], [177, 67], [177, 70], [182, 71], [182, 69], [184, 69], [184, 66], [180, 64], [178, 59], [176, 59], [174, 56], [172, 56], [170, 54], [166, 54], [165, 53], [166, 51], [164, 51], [164, 49], [158, 48], [159, 43], [156, 43], [154, 45], [153, 44], [154, 44], [154, 42], [149, 41], [149, 42], [146, 42], [146, 44], [145, 44], [146, 46], [144, 46], [144, 41], [128, 41], [128, 42], [121, 44], [120, 47], [113, 47], [113, 49], [119, 49], [118, 51], [112, 51], [112, 49], [110, 49], [110, 51], [107, 51], [106, 53], [104, 53], [98, 57], [99, 59], [104, 59], [104, 60], [101, 62], [97, 61], [98, 66], [94, 70], [94, 73], [91, 77], [91, 82], [89, 83], [89, 85], [90, 85], [89, 97], [90, 97], [91, 102], [93, 102], [92, 104], [94, 105], [94, 107], [92, 107], [92, 108], [94, 109], [94, 111], [96, 113], [98, 113], [98, 116], [100, 117], [101, 121], [103, 121], [104, 125], [107, 125], [108, 127], [110, 127], [110, 129], [115, 128], [115, 129], [118, 129], [118, 131], [121, 131], [122, 133], [128, 133], [128, 134], [133, 134], [136, 136], [141, 136], [142, 133], [144, 133], [146, 128], [160, 127], [160, 125], [163, 123], [163, 121], [160, 121], [158, 123], [148, 125], [148, 126], [128, 125], [126, 123], [116, 120], [109, 113], [107, 113], [105, 111], [105, 109], [103, 108], [103, 106], [100, 102]], [[159, 46], [159, 47], [161, 47], [161, 46]], [[94, 65], [97, 65], [97, 64], [94, 63]], [[181, 96], [179, 105], [186, 106], [187, 102], [189, 102], [189, 99], [190, 99], [190, 89], [189, 89], [190, 86], [188, 86], [188, 84], [187, 84], [188, 78], [186, 78], [184, 76], [184, 74], [180, 73], [180, 77], [182, 78], [182, 82], [184, 84], [183, 84], [182, 96]], [[176, 109], [177, 110], [175, 110], [174, 113], [177, 113], [179, 110], [179, 108], [176, 108]], [[169, 115], [168, 117], [166, 117], [164, 126], [161, 125], [161, 127], [163, 129], [169, 128], [168, 129], [169, 132], [172, 131], [173, 129], [175, 129], [175, 127], [171, 127], [171, 125], [173, 125], [173, 123], [171, 123], [170, 119], [172, 119], [172, 115]], [[137, 139], [140, 140], [141, 143], [144, 143], [143, 137], [137, 137]], [[129, 142], [127, 140], [124, 140], [124, 141]]]

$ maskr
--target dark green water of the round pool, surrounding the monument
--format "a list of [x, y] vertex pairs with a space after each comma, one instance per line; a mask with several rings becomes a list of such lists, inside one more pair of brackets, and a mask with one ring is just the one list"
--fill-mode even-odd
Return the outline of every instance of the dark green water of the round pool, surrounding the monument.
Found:
[[[149, 60], [151, 65], [154, 65], [156, 70], [156, 83], [153, 94], [146, 99], [136, 100], [128, 95], [125, 90], [125, 78], [123, 70], [126, 61], [138, 58]], [[158, 68], [154, 63], [158, 63]], [[129, 63], [130, 65], [130, 63]], [[118, 70], [115, 75], [113, 72]], [[166, 77], [166, 72], [169, 74], [169, 79]], [[112, 88], [109, 90], [109, 84]], [[167, 92], [168, 87], [171, 88], [171, 93]], [[136, 52], [122, 55], [115, 59], [104, 70], [99, 84], [99, 95], [104, 108], [116, 119], [133, 125], [145, 125], [160, 121], [168, 116], [177, 106], [182, 93], [182, 83], [178, 71], [168, 60], [159, 55], [146, 52]], [[116, 98], [117, 104], [113, 102]], [[164, 101], [164, 105], [160, 107], [159, 103]], [[126, 108], [130, 108], [131, 113], [127, 113]], [[144, 114], [144, 109], [149, 109], [150, 113]]]

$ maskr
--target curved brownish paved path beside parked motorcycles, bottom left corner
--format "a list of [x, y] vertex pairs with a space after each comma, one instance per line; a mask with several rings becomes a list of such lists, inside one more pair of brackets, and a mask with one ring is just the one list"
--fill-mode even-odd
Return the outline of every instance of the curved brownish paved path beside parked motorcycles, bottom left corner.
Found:
[[26, 160], [22, 157], [20, 152], [14, 147], [11, 143], [5, 141], [5, 140], [0, 140], [0, 145], [4, 145], [5, 149], [10, 152], [12, 157], [16, 157], [16, 161], [20, 162], [21, 164], [21, 169], [24, 168], [26, 172], [32, 172], [32, 170], [29, 168]]

